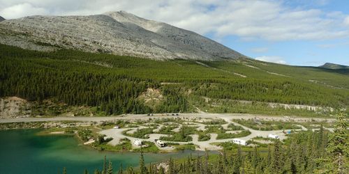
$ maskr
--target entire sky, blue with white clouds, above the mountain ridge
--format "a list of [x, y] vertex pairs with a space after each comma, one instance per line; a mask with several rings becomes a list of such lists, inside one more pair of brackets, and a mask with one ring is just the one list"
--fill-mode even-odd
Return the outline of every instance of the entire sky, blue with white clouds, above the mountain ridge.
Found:
[[289, 65], [349, 65], [346, 0], [0, 0], [0, 15], [96, 15], [125, 10]]

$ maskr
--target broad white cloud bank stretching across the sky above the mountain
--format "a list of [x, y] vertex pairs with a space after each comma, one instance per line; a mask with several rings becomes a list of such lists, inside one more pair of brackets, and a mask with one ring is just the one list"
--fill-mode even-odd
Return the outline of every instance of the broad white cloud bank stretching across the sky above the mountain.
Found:
[[[327, 0], [317, 2], [328, 3]], [[91, 15], [116, 10], [200, 34], [211, 33], [217, 40], [227, 35], [237, 35], [242, 40], [325, 40], [349, 35], [348, 14], [325, 13], [308, 6], [292, 8], [287, 1], [0, 0], [0, 15], [6, 19], [43, 14]]]

